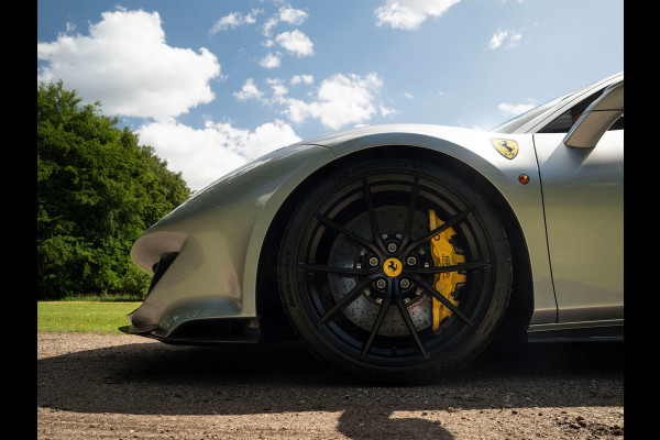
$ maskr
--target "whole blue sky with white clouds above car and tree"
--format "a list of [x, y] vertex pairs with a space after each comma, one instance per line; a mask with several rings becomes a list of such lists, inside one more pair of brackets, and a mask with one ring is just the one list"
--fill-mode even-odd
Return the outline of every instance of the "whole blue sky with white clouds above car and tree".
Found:
[[37, 81], [193, 189], [356, 125], [487, 130], [623, 70], [623, 0], [37, 1]]

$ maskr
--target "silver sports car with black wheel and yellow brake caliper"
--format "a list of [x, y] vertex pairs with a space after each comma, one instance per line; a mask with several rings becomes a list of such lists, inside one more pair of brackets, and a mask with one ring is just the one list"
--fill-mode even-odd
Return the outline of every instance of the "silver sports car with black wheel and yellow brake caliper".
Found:
[[[124, 331], [297, 337], [363, 378], [447, 375], [496, 339], [623, 339], [624, 74], [484, 132], [397, 124], [289, 145], [134, 243]], [[292, 331], [293, 330], [293, 331]]]

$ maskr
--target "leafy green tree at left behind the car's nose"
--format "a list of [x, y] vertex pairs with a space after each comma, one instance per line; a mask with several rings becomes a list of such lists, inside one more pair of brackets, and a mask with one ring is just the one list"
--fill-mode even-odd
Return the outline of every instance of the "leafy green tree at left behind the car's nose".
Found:
[[37, 297], [143, 295], [132, 243], [190, 189], [100, 102], [41, 82], [36, 106]]

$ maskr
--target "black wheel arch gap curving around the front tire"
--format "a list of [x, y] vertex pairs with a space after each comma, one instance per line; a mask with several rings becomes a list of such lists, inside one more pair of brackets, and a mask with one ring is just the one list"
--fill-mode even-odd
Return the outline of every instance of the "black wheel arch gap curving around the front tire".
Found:
[[506, 198], [483, 174], [449, 154], [414, 145], [382, 145], [343, 155], [320, 167], [300, 182], [277, 210], [262, 245], [256, 275], [256, 312], [266, 341], [293, 337], [278, 292], [277, 251], [298, 204], [311, 187], [348, 163], [397, 157], [432, 163], [453, 173], [477, 189], [494, 209], [509, 240], [514, 270], [509, 305], [496, 337], [498, 340], [524, 340], [534, 312], [531, 264], [522, 230]]

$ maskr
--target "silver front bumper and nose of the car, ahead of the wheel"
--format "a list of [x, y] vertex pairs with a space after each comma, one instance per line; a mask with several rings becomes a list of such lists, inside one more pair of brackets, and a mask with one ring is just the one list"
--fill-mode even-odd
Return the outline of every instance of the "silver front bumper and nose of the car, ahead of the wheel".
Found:
[[[127, 317], [127, 331], [173, 341], [183, 338], [186, 322], [241, 327], [255, 320], [258, 260], [268, 227], [300, 182], [333, 158], [319, 145], [278, 150], [211, 184], [146, 230], [131, 256], [144, 270], [155, 270], [157, 279]], [[160, 273], [154, 263], [172, 253], [176, 257]], [[240, 339], [233, 330], [226, 333]]]

